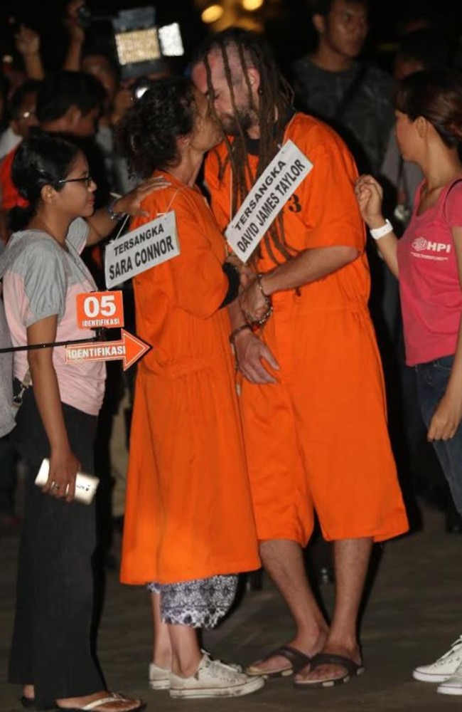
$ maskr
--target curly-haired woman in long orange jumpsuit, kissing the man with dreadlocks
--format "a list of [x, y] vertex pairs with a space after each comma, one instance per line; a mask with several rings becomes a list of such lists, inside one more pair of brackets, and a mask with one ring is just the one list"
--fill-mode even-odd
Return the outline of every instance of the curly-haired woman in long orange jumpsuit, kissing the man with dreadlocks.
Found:
[[151, 687], [182, 698], [247, 694], [262, 684], [211, 660], [194, 631], [229, 609], [237, 572], [259, 567], [223, 309], [240, 275], [195, 187], [220, 129], [203, 95], [176, 78], [134, 104], [119, 138], [137, 174], [164, 179], [133, 226], [173, 211], [180, 246], [134, 278], [137, 330], [152, 350], [136, 381], [122, 581], [155, 582]]

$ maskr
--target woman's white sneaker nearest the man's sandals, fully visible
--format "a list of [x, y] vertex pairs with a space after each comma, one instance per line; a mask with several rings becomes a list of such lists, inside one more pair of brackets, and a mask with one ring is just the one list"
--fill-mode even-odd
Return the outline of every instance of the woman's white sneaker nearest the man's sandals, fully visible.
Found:
[[170, 675], [170, 696], [174, 698], [240, 697], [264, 686], [263, 678], [250, 678], [231, 665], [203, 655], [195, 675]]

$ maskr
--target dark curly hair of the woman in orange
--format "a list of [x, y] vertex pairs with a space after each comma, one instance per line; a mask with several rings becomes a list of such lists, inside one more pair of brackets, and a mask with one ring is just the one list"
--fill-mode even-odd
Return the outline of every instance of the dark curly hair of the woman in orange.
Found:
[[139, 177], [179, 162], [177, 139], [194, 128], [194, 91], [183, 77], [156, 80], [119, 121], [117, 147]]

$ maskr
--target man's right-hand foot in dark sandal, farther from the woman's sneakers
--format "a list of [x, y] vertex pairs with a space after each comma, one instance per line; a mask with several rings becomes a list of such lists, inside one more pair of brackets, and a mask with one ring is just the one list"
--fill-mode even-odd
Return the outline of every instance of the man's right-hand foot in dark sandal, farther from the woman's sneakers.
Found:
[[306, 669], [299, 671], [294, 679], [294, 686], [335, 687], [343, 685], [364, 671], [359, 647], [355, 651], [325, 649], [311, 658]]

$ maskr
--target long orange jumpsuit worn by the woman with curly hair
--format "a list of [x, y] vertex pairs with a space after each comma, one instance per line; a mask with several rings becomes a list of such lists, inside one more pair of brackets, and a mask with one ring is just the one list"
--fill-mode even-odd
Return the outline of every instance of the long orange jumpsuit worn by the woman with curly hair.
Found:
[[198, 190], [143, 203], [174, 210], [181, 254], [134, 278], [139, 364], [131, 425], [121, 578], [177, 583], [258, 568], [227, 309], [225, 243]]

